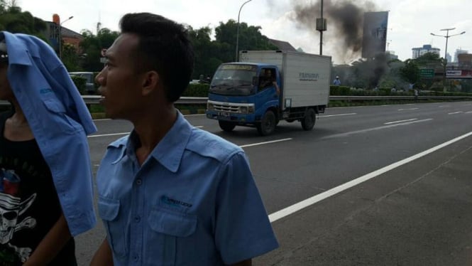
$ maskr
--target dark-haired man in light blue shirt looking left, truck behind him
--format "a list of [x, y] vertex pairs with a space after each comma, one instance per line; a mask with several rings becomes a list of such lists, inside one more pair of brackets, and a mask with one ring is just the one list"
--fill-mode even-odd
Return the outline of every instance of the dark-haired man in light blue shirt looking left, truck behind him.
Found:
[[173, 105], [192, 74], [187, 32], [148, 13], [120, 26], [97, 82], [106, 114], [134, 128], [97, 172], [106, 240], [92, 265], [251, 265], [278, 243], [246, 155]]

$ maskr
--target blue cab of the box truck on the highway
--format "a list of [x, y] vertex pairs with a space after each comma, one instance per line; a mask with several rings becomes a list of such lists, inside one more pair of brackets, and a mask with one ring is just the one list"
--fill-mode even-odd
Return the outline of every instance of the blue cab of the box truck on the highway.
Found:
[[[270, 134], [279, 120], [280, 87], [276, 65], [224, 63], [216, 70], [209, 87], [207, 117], [218, 119], [226, 132], [240, 125]], [[272, 114], [263, 127], [261, 122], [268, 110]]]

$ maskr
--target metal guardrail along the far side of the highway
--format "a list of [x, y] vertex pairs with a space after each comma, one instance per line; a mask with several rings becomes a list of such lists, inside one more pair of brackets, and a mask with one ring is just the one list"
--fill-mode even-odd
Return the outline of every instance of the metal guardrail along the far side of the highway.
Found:
[[[82, 95], [87, 105], [98, 105], [101, 96], [99, 95]], [[414, 100], [415, 96], [329, 96], [329, 100]], [[440, 100], [472, 100], [472, 96], [418, 96], [419, 100], [440, 99]], [[208, 97], [180, 97], [176, 104], [180, 105], [204, 105], [207, 103]], [[1, 105], [10, 105], [9, 102], [0, 100]]]

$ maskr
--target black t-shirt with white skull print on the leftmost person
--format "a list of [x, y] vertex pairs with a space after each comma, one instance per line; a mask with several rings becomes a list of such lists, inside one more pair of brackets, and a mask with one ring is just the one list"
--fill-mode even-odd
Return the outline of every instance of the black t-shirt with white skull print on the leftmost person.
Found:
[[[60, 217], [61, 208], [48, 164], [34, 139], [12, 142], [0, 114], [0, 266], [21, 265]], [[71, 239], [50, 265], [77, 265]]]

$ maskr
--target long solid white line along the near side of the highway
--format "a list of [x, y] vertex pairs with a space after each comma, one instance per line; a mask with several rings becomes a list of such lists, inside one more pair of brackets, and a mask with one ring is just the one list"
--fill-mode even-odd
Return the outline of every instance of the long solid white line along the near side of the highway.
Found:
[[469, 136], [472, 136], [472, 132], [468, 132], [467, 134], [463, 134], [460, 137], [456, 137], [455, 139], [451, 139], [448, 142], [444, 142], [442, 144], [439, 144], [436, 147], [432, 147], [431, 149], [427, 149], [426, 151], [422, 151], [419, 154], [415, 154], [415, 155], [410, 156], [406, 159], [402, 159], [401, 161], [397, 161], [393, 164], [390, 164], [388, 166], [385, 166], [383, 168], [375, 170], [375, 171], [373, 171], [369, 174], [358, 177], [357, 179], [353, 179], [351, 181], [348, 181], [347, 183], [343, 183], [339, 186], [336, 186], [335, 188], [331, 188], [329, 191], [324, 191], [322, 193], [319, 193], [316, 196], [312, 196], [311, 198], [307, 198], [304, 201], [300, 201], [299, 203], [295, 203], [292, 206], [288, 206], [287, 208], [283, 208], [280, 211], [276, 211], [275, 213], [271, 213], [269, 215], [270, 223], [273, 223], [276, 220], [279, 220], [279, 219], [284, 218], [286, 216], [290, 216], [292, 213], [300, 211], [303, 208], [307, 208], [309, 206], [312, 206], [314, 203], [317, 203], [317, 202], [322, 201], [326, 198], [334, 196], [337, 193], [345, 191], [348, 188], [352, 188], [353, 186], [356, 186], [360, 183], [368, 181], [369, 179], [373, 179], [376, 176], [380, 176], [381, 174], [385, 174], [386, 172], [388, 172], [390, 170], [393, 170], [397, 167], [400, 167], [404, 164], [407, 164], [410, 161], [415, 161], [416, 159], [419, 159], [422, 156], [426, 156], [427, 154], [431, 154], [434, 151], [437, 151], [438, 149], [444, 148], [444, 147], [446, 147], [450, 144], [453, 144], [454, 142], [459, 142], [459, 140], [464, 139], [464, 138], [469, 137]]

